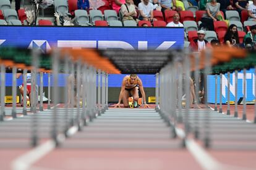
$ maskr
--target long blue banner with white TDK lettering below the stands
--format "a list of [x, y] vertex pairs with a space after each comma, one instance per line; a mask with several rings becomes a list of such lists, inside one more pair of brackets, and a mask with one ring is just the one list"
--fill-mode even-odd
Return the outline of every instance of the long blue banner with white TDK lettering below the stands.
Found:
[[98, 49], [182, 49], [184, 28], [0, 26], [0, 47]]

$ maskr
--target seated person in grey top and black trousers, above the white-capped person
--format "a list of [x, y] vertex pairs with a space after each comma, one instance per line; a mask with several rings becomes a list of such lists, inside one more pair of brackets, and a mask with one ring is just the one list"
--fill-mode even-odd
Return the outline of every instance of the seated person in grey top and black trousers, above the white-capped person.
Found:
[[202, 16], [202, 24], [200, 25], [201, 28], [207, 28], [210, 31], [214, 31], [213, 22], [215, 22], [220, 14], [220, 3], [216, 0], [211, 0], [211, 2], [207, 3], [206, 5], [206, 14]]

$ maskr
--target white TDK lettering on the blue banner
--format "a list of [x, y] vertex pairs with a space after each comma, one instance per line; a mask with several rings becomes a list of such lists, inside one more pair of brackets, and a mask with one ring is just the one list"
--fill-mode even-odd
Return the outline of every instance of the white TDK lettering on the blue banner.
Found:
[[[169, 47], [173, 46], [176, 41], [164, 41], [156, 50], [167, 50]], [[76, 40], [58, 40], [58, 47], [72, 47], [78, 48], [96, 48], [97, 41], [76, 41]], [[98, 49], [134, 49], [131, 44], [125, 41], [98, 41]], [[148, 49], [148, 41], [138, 41], [138, 49], [145, 50]]]

